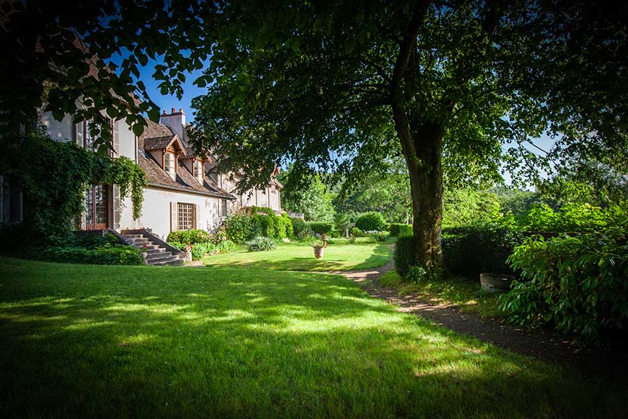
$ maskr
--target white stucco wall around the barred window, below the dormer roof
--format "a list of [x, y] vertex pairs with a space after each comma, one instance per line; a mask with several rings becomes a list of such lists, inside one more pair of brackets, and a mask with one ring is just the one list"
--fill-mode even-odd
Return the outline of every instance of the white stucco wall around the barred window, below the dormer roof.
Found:
[[209, 233], [214, 232], [222, 222], [220, 199], [193, 193], [170, 191], [167, 189], [144, 189], [142, 216], [133, 221], [132, 207], [128, 198], [122, 210], [122, 230], [127, 228], [151, 228], [153, 233], [164, 239], [170, 233], [170, 203], [196, 204], [196, 226]]

